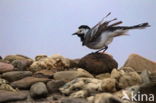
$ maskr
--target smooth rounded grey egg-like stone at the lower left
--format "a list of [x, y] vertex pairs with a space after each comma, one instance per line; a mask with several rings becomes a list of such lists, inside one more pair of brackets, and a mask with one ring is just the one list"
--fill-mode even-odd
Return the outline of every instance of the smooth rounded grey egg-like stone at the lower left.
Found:
[[33, 84], [30, 88], [30, 95], [33, 98], [46, 97], [48, 90], [46, 85], [43, 82], [37, 82]]

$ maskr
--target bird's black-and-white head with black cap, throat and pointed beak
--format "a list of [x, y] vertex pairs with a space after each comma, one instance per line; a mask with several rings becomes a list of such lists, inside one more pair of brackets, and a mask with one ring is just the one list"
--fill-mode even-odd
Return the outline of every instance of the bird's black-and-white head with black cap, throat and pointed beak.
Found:
[[80, 37], [81, 41], [83, 41], [85, 35], [87, 34], [89, 30], [90, 30], [89, 26], [81, 25], [79, 26], [78, 30], [75, 33], [73, 33], [73, 35], [77, 35], [78, 37]]

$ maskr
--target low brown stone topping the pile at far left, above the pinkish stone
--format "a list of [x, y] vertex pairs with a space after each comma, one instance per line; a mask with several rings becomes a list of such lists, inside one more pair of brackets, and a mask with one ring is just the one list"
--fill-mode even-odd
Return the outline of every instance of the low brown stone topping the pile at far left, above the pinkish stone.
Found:
[[4, 58], [4, 60], [9, 61], [9, 63], [12, 63], [14, 60], [30, 60], [30, 61], [33, 61], [31, 58], [23, 56], [23, 55], [8, 55]]

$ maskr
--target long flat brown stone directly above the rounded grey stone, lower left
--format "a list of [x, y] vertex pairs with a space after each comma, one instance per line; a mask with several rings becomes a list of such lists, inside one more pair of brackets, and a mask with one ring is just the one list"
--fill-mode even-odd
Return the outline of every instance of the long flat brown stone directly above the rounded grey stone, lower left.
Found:
[[47, 78], [36, 78], [36, 77], [25, 77], [21, 80], [14, 81], [11, 83], [11, 86], [20, 89], [28, 89], [30, 86], [36, 82], [47, 82]]

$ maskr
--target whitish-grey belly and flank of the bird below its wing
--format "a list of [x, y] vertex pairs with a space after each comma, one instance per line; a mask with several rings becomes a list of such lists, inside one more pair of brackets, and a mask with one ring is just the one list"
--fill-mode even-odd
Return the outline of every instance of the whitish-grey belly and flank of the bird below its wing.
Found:
[[99, 37], [99, 40], [90, 43], [89, 45], [87, 45], [87, 47], [91, 48], [91, 49], [101, 49], [104, 48], [105, 46], [107, 46], [108, 44], [110, 44], [113, 40], [113, 37], [110, 36], [112, 34], [112, 32], [104, 32], [102, 33], [101, 37]]

